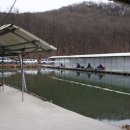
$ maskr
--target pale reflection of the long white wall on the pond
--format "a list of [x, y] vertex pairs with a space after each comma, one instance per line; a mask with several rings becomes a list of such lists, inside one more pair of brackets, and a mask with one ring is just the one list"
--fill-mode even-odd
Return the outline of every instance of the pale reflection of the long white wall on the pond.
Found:
[[[46, 71], [46, 69], [44, 70]], [[116, 87], [128, 88], [130, 92], [130, 77], [122, 75], [110, 75], [102, 73], [92, 73], [92, 72], [80, 72], [80, 71], [69, 71], [69, 70], [49, 70], [47, 74], [54, 71], [55, 76], [60, 78], [66, 78], [69, 80], [78, 80], [79, 82], [86, 82], [87, 84], [98, 84], [99, 86], [105, 87]], [[107, 86], [106, 86], [107, 85]], [[127, 89], [126, 89], [127, 90]]]

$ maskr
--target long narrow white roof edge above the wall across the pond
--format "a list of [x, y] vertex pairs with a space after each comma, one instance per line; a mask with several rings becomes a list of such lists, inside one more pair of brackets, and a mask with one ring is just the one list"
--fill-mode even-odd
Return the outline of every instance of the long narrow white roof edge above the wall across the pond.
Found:
[[130, 53], [107, 53], [107, 54], [91, 54], [91, 55], [71, 55], [71, 56], [51, 56], [51, 59], [65, 59], [65, 58], [94, 58], [94, 57], [123, 57], [130, 56]]

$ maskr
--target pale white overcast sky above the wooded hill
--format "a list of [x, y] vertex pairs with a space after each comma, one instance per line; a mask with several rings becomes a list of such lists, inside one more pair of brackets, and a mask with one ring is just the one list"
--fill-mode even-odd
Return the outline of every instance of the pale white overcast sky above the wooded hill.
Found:
[[[43, 12], [83, 1], [85, 0], [17, 0], [14, 8], [17, 8], [20, 12]], [[108, 0], [91, 1], [108, 2]], [[14, 0], [0, 0], [0, 11], [7, 11], [13, 2]]]

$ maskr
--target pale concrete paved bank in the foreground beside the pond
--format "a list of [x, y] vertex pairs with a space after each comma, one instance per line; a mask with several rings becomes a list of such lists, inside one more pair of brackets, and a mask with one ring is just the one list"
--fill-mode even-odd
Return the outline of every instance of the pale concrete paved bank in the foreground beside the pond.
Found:
[[0, 88], [0, 130], [120, 130], [120, 127], [82, 116], [33, 95]]

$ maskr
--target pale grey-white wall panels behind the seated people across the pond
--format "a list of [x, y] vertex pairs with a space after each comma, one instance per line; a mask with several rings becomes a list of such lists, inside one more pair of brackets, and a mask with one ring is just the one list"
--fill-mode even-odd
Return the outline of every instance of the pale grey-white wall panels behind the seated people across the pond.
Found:
[[59, 58], [55, 59], [55, 66], [60, 66], [61, 63], [65, 67], [75, 68], [77, 63], [84, 68], [87, 68], [88, 63], [93, 68], [102, 64], [106, 70], [112, 71], [129, 71], [130, 72], [130, 57], [91, 57], [91, 58]]

